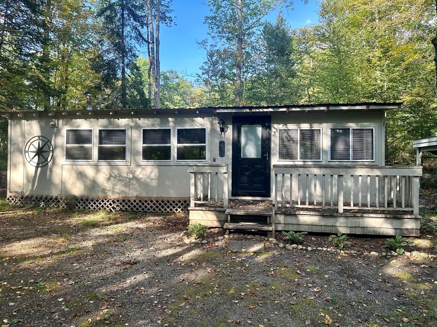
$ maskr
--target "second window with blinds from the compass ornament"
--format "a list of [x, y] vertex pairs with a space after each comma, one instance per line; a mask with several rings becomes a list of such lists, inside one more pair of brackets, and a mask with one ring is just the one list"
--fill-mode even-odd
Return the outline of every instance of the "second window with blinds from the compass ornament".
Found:
[[100, 129], [99, 161], [126, 161], [126, 129]]

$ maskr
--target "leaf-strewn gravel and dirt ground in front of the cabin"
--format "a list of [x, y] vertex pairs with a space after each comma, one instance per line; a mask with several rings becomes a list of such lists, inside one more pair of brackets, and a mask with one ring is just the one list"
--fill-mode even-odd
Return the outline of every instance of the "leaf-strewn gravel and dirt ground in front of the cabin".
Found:
[[[428, 225], [405, 250], [437, 254], [437, 189], [420, 203]], [[2, 327], [437, 326], [434, 259], [185, 244], [181, 214], [0, 202], [0, 220]], [[303, 246], [329, 247], [328, 236], [308, 234]], [[348, 237], [348, 250], [385, 250], [385, 238]]]

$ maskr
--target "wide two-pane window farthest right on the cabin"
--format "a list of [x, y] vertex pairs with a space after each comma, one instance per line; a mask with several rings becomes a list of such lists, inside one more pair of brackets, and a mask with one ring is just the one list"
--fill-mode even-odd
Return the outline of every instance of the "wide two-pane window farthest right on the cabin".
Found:
[[329, 160], [373, 161], [373, 128], [330, 128]]

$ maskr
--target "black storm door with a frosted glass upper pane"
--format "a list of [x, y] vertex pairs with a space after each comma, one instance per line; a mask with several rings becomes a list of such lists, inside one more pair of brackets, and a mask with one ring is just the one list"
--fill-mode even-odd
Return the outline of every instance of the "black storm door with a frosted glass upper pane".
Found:
[[270, 117], [234, 117], [232, 196], [270, 196]]

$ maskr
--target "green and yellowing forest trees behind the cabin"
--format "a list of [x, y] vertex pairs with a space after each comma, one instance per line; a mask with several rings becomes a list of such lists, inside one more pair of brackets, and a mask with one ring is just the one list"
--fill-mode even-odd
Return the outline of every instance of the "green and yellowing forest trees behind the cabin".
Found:
[[281, 14], [290, 0], [204, 5], [206, 60], [187, 77], [160, 71], [171, 0], [0, 0], [0, 111], [85, 109], [88, 93], [94, 109], [401, 101], [386, 164], [414, 163], [412, 140], [437, 136], [435, 1], [321, 0], [319, 23], [297, 29]]

